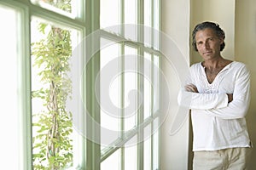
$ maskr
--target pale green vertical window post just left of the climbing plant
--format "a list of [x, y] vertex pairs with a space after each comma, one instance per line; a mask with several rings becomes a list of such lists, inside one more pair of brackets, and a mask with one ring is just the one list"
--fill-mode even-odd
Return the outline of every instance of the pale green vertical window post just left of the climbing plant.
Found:
[[[28, 8], [26, 5], [15, 2], [3, 0], [0, 2], [3, 6], [13, 8], [20, 13], [17, 28], [19, 37], [18, 43], [18, 87], [19, 93], [18, 96], [18, 119], [19, 119], [19, 166], [21, 169], [32, 169], [32, 139], [31, 139], [31, 116], [27, 113], [31, 112], [31, 102], [30, 102], [30, 38], [27, 38], [25, 35], [29, 35], [30, 22], [27, 20], [29, 18]], [[25, 138], [26, 137], [26, 138]]]

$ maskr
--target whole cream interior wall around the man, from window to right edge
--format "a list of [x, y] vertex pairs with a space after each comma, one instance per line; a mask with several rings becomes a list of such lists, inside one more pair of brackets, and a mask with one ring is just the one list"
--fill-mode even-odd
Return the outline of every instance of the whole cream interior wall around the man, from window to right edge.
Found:
[[[201, 56], [191, 48], [191, 31], [202, 21], [215, 21], [224, 29], [226, 47], [222, 55], [247, 64], [251, 71], [252, 98], [247, 115], [249, 133], [256, 144], [256, 2], [254, 0], [162, 0], [162, 31], [172, 37], [177, 47], [182, 51], [188, 65], [201, 61]], [[190, 46], [190, 47], [189, 47]], [[165, 76], [170, 82], [173, 95], [172, 108], [161, 126], [161, 165], [160, 169], [190, 169], [189, 162], [189, 120], [174, 135], [170, 135], [171, 124], [177, 113], [178, 78], [175, 69], [162, 62]], [[163, 101], [164, 102], [164, 101]], [[255, 147], [255, 146], [254, 146]], [[256, 150], [253, 150], [252, 160], [256, 160]], [[250, 169], [256, 167], [252, 161]]]

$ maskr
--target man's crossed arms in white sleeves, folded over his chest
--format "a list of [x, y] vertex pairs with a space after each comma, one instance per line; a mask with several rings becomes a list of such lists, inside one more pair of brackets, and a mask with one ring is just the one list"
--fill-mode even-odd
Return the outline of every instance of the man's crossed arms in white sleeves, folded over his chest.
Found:
[[192, 110], [203, 110], [211, 116], [223, 119], [243, 118], [250, 103], [250, 75], [242, 70], [236, 78], [232, 94], [201, 94], [191, 82], [178, 94], [178, 104]]

